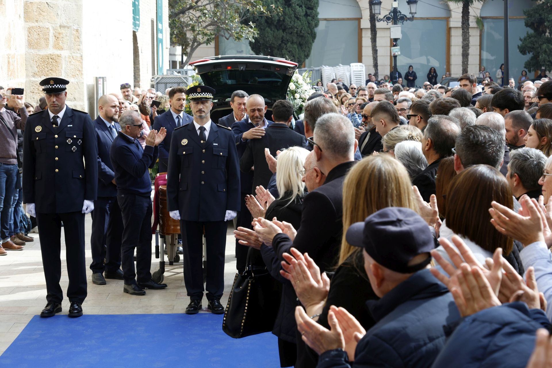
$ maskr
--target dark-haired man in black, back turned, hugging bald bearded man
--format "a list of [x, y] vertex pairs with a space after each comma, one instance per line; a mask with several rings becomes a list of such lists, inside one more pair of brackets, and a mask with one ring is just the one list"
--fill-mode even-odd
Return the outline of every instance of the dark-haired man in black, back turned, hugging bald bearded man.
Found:
[[242, 172], [248, 172], [251, 170], [251, 167], [254, 167], [251, 193], [255, 193], [255, 188], [259, 185], [267, 188], [273, 174], [268, 168], [264, 152], [265, 148], [268, 148], [270, 153], [275, 156], [277, 151], [288, 147], [307, 146], [305, 136], [289, 129], [292, 114], [293, 105], [289, 101], [278, 100], [272, 106], [274, 124], [267, 127], [261, 139], [247, 142], [246, 150], [240, 159], [240, 169]]

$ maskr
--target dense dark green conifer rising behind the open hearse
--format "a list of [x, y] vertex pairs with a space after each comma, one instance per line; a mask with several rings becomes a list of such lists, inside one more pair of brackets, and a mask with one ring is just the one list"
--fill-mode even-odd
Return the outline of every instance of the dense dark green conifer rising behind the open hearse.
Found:
[[301, 65], [316, 38], [319, 0], [263, 0], [263, 4], [274, 4], [283, 12], [253, 17], [259, 34], [250, 40], [251, 49], [257, 55], [284, 57]]

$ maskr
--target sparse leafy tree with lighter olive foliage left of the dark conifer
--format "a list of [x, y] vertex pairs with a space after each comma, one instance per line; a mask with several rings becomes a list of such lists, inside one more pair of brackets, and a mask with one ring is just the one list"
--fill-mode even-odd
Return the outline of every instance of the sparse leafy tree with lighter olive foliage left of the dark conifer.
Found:
[[209, 45], [216, 36], [253, 40], [258, 30], [252, 17], [282, 13], [261, 0], [169, 0], [169, 26], [172, 44], [181, 45], [187, 64], [195, 50]]

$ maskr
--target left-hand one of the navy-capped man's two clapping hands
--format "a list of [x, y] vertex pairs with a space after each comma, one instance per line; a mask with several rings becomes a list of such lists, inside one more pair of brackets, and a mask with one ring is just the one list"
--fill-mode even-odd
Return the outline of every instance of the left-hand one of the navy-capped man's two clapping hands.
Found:
[[312, 350], [316, 351], [317, 354], [320, 355], [328, 350], [345, 348], [343, 332], [332, 311], [328, 312], [328, 323], [331, 330], [312, 321], [302, 307], [295, 308], [295, 321], [297, 322], [297, 329], [302, 335], [302, 340]]

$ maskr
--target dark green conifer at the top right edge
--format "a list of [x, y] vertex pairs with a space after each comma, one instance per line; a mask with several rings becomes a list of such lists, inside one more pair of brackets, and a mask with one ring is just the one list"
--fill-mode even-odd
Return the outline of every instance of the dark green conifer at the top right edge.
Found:
[[552, 0], [535, 1], [535, 5], [523, 10], [523, 13], [526, 16], [525, 26], [533, 31], [519, 39], [519, 52], [522, 55], [532, 54], [524, 67], [528, 71], [540, 68], [552, 70], [552, 38], [549, 34], [552, 29]]

